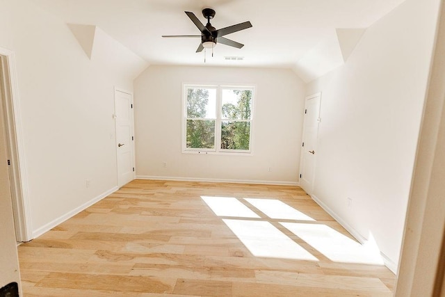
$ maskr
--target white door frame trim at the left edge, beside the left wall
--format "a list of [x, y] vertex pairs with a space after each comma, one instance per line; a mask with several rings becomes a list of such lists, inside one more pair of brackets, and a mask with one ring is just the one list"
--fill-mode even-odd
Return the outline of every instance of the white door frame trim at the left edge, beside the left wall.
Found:
[[3, 74], [4, 98], [3, 117], [6, 132], [6, 150], [8, 152], [8, 166], [10, 190], [13, 203], [15, 236], [19, 242], [33, 239], [31, 225], [31, 203], [29, 201], [28, 182], [26, 174], [26, 159], [22, 135], [22, 116], [19, 106], [19, 88], [17, 70], [15, 67], [15, 53], [0, 47], [1, 68]]

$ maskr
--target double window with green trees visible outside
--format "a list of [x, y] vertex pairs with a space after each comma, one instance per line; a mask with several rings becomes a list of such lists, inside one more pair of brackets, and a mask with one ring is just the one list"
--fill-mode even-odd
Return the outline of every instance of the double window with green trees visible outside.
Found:
[[253, 87], [184, 85], [183, 152], [250, 152]]

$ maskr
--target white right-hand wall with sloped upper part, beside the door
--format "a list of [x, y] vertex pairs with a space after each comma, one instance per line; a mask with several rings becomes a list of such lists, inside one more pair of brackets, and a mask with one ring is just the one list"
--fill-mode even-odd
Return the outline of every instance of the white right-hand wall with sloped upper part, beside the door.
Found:
[[[314, 195], [375, 238], [396, 271], [439, 0], [407, 0], [364, 33], [322, 92]], [[347, 198], [353, 199], [348, 209]]]

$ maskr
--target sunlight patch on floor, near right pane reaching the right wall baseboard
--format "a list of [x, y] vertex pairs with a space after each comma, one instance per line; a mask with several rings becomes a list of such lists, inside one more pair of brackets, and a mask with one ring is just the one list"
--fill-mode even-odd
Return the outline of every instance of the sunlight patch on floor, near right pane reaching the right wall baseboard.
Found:
[[280, 224], [334, 262], [383, 264], [380, 252], [373, 244], [362, 245], [327, 225]]

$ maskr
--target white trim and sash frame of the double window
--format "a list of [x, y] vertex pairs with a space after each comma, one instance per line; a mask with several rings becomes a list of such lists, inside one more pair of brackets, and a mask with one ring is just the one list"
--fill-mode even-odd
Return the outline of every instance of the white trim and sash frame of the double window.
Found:
[[[200, 149], [193, 147], [186, 147], [186, 127], [187, 127], [187, 88], [215, 88], [216, 89], [216, 119], [215, 120], [215, 148], [213, 149]], [[249, 150], [227, 150], [221, 149], [221, 122], [222, 118], [222, 90], [223, 89], [236, 89], [236, 90], [252, 90], [252, 105], [251, 105], [251, 113], [250, 120], [232, 120], [236, 122], [250, 122], [250, 134], [249, 134]], [[255, 85], [236, 85], [233, 83], [212, 83], [212, 84], [204, 84], [204, 83], [183, 83], [182, 84], [182, 109], [181, 109], [181, 151], [183, 154], [221, 154], [221, 155], [244, 155], [251, 156], [252, 155], [252, 132], [254, 127], [254, 106], [255, 106]], [[211, 120], [208, 118], [196, 118], [195, 120]]]

